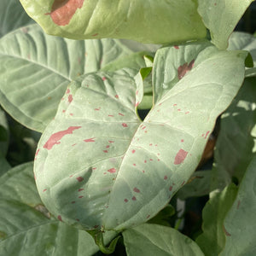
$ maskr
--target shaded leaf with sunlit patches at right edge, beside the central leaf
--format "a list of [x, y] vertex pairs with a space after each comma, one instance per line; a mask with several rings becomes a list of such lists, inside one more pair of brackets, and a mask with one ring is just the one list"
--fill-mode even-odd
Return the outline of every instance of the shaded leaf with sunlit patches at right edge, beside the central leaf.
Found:
[[241, 182], [256, 154], [256, 78], [247, 78], [238, 95], [221, 116], [214, 151], [212, 189], [224, 189], [232, 177]]

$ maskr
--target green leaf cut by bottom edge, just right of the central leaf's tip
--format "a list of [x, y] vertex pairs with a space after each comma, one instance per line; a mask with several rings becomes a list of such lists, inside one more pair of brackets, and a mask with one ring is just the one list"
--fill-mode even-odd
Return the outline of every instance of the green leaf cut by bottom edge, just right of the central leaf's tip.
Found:
[[157, 224], [142, 224], [123, 232], [128, 256], [203, 256], [200, 247], [179, 231]]

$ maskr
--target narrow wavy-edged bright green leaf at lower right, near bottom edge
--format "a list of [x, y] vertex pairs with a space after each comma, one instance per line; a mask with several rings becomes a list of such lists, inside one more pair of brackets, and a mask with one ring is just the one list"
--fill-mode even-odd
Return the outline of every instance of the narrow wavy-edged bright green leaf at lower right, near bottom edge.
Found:
[[229, 236], [224, 218], [232, 207], [236, 194], [236, 185], [230, 184], [221, 193], [212, 193], [203, 209], [203, 233], [197, 237], [196, 242], [206, 256], [216, 256], [224, 248], [225, 237]]

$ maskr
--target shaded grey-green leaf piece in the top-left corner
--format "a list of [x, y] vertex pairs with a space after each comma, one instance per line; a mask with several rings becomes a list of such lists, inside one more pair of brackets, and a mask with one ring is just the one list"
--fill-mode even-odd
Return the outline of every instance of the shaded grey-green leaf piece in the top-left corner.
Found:
[[0, 38], [20, 26], [26, 26], [33, 22], [34, 21], [26, 15], [19, 0], [1, 0]]

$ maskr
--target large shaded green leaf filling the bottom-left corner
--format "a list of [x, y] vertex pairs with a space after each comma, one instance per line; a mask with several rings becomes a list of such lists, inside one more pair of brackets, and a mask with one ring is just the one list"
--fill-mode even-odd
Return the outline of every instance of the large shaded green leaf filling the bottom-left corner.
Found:
[[[98, 251], [92, 237], [50, 217], [34, 183], [32, 162], [0, 177], [1, 255], [92, 255]], [[108, 242], [114, 233], [106, 234]], [[24, 243], [26, 241], [26, 243]]]

